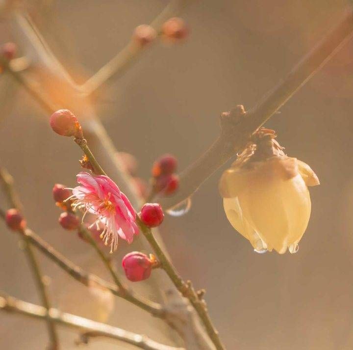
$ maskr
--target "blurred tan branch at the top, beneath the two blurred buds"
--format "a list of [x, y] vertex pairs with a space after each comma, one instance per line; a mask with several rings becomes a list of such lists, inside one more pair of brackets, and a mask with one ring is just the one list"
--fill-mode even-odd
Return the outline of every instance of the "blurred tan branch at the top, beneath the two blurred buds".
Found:
[[[180, 11], [186, 0], [172, 0], [163, 11], [151, 22], [157, 32], [160, 31], [162, 24], [170, 17], [175, 16]], [[90, 95], [97, 90], [105, 81], [121, 76], [134, 60], [144, 51], [145, 47], [136, 44], [133, 40], [126, 47], [114, 56], [108, 63], [94, 74], [88, 81], [81, 85], [82, 91]]]

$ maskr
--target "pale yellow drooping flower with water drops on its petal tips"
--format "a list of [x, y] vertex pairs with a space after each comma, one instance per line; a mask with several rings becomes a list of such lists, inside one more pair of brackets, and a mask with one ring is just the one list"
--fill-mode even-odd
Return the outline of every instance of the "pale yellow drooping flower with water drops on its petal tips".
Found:
[[259, 129], [220, 180], [231, 225], [258, 253], [298, 251], [311, 202], [308, 186], [319, 185], [309, 165], [287, 157], [270, 129]]

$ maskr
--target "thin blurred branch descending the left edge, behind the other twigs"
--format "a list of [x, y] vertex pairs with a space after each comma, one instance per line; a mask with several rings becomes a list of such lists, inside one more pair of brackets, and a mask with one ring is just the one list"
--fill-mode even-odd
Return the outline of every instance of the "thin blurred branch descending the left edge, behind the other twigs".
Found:
[[[8, 171], [4, 168], [0, 169], [0, 179], [4, 185], [5, 191], [7, 193], [7, 197], [9, 199], [9, 202], [11, 203], [12, 208], [16, 208], [21, 211], [22, 204], [17, 192], [14, 189], [13, 178], [8, 173]], [[43, 282], [43, 274], [41, 272], [41, 269], [39, 267], [39, 263], [35, 257], [35, 254], [32, 250], [32, 247], [29, 243], [29, 240], [25, 236], [22, 238], [22, 240], [23, 240], [22, 245], [23, 245], [25, 254], [27, 256], [29, 266], [32, 269], [34, 280], [37, 284], [37, 289], [41, 297], [42, 304], [46, 308], [46, 313], [47, 313], [49, 312], [49, 309], [50, 309], [50, 301], [49, 301], [49, 296], [47, 292], [47, 287]], [[50, 320], [47, 320], [47, 325], [48, 325], [48, 331], [49, 331], [49, 337], [50, 337], [49, 349], [58, 350], [59, 349], [58, 337], [56, 334], [55, 325]]]

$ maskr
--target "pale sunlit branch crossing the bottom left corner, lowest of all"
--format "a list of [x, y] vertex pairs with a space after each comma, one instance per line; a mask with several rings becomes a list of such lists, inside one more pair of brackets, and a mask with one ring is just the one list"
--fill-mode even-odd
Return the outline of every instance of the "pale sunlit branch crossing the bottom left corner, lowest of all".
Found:
[[10, 296], [0, 296], [0, 310], [18, 313], [32, 318], [47, 320], [52, 323], [59, 323], [70, 328], [86, 331], [88, 336], [101, 336], [117, 339], [137, 348], [144, 350], [184, 350], [157, 343], [150, 338], [129, 332], [127, 330], [110, 326], [108, 324], [95, 322], [76, 315], [60, 312], [51, 308], [49, 312], [38, 305], [25, 302]]

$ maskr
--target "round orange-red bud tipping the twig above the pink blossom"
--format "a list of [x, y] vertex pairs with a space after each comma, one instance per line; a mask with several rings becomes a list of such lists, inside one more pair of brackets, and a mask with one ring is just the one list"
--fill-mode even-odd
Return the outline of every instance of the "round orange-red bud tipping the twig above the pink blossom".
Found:
[[76, 116], [68, 109], [59, 109], [51, 114], [50, 126], [56, 134], [83, 138], [82, 129]]

